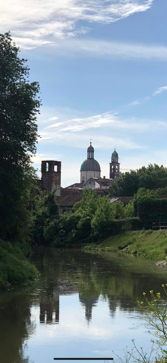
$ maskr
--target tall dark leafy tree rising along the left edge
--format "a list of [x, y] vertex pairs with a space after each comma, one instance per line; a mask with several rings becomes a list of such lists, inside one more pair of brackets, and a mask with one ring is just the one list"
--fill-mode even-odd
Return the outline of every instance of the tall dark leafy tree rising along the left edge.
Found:
[[19, 238], [22, 215], [26, 223], [40, 107], [39, 83], [29, 82], [26, 60], [18, 53], [10, 33], [0, 34], [0, 230], [13, 240]]

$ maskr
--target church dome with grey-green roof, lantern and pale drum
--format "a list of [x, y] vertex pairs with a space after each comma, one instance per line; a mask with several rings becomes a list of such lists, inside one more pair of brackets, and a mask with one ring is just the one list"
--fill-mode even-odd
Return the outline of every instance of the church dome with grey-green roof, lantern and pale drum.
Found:
[[80, 182], [85, 183], [89, 178], [100, 178], [100, 165], [94, 159], [94, 148], [90, 143], [87, 148], [87, 159], [81, 165]]

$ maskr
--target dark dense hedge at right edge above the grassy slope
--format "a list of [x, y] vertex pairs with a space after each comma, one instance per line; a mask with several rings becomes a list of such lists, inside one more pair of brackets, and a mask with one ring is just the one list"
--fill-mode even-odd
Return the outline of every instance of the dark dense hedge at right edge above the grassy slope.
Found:
[[142, 225], [150, 229], [152, 222], [167, 222], [167, 199], [144, 197], [137, 203], [137, 215]]

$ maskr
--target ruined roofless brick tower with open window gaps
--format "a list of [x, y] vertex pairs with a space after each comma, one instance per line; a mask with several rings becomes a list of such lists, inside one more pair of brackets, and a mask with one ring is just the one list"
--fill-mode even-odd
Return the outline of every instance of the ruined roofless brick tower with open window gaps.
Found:
[[43, 160], [41, 164], [42, 187], [49, 192], [56, 190], [55, 195], [60, 196], [61, 162], [55, 160]]

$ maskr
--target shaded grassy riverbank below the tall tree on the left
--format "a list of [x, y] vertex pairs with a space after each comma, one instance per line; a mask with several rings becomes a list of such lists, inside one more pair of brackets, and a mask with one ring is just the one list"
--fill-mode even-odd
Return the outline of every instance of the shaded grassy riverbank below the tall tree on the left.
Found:
[[7, 284], [21, 284], [37, 277], [37, 269], [25, 254], [25, 249], [0, 241], [0, 290]]

